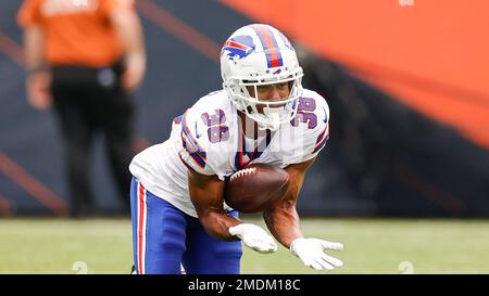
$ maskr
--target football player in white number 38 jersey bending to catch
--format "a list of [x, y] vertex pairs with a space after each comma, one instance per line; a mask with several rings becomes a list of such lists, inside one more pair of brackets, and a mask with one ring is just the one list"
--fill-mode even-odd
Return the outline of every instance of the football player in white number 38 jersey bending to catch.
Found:
[[[173, 121], [168, 140], [130, 164], [134, 261], [137, 273], [239, 273], [241, 242], [260, 253], [277, 240], [316, 270], [342, 262], [324, 253], [342, 245], [306, 239], [297, 197], [305, 171], [328, 139], [329, 108], [303, 89], [302, 68], [276, 28], [248, 25], [221, 52], [223, 90], [195, 103]], [[290, 188], [263, 213], [269, 235], [238, 219], [223, 198], [226, 177], [250, 164], [285, 168]]]

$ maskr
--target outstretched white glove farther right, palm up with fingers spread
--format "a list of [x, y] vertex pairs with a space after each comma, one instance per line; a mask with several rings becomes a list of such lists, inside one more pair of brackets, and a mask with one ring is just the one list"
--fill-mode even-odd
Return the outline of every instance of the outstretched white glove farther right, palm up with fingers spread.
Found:
[[324, 253], [325, 249], [342, 250], [343, 245], [318, 239], [299, 237], [290, 244], [290, 252], [299, 257], [306, 267], [315, 270], [333, 270], [342, 267], [341, 260], [330, 257]]

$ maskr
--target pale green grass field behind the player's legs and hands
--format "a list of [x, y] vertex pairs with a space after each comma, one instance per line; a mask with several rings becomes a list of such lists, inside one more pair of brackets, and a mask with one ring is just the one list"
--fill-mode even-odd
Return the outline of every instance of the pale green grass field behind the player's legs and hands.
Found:
[[[302, 228], [341, 242], [330, 255], [344, 266], [317, 272], [281, 246], [243, 247], [242, 273], [489, 273], [489, 220], [303, 219]], [[127, 274], [130, 240], [128, 219], [0, 219], [0, 273]]]

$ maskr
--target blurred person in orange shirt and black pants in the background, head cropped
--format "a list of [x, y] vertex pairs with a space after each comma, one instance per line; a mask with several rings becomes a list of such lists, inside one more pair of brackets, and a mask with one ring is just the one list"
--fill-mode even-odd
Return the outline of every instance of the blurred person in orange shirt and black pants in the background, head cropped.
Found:
[[61, 125], [71, 194], [71, 216], [95, 213], [89, 184], [93, 136], [102, 131], [125, 214], [130, 184], [134, 105], [146, 53], [131, 0], [25, 0], [17, 15], [24, 29], [28, 102], [51, 105]]

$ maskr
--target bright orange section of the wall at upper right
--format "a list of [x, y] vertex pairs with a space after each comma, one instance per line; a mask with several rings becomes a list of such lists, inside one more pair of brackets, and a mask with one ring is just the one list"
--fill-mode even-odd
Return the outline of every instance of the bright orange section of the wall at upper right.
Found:
[[222, 2], [489, 147], [489, 1]]

